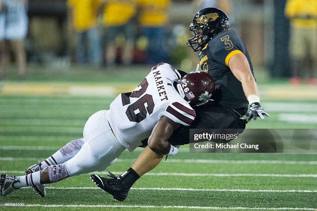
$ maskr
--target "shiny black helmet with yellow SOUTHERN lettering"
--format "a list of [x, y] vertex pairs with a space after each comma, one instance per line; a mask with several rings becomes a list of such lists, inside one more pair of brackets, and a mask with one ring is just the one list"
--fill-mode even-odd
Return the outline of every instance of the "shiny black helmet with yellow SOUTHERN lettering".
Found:
[[[201, 50], [215, 35], [229, 30], [229, 18], [222, 10], [217, 8], [205, 8], [197, 12], [189, 30], [195, 36], [188, 39], [187, 46], [195, 52]], [[198, 42], [200, 39], [200, 43]]]

